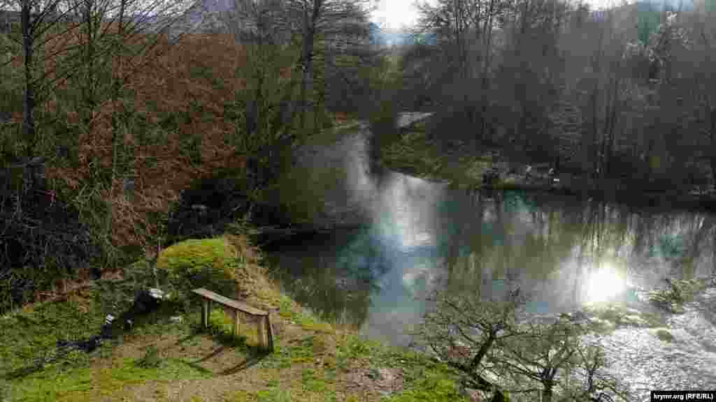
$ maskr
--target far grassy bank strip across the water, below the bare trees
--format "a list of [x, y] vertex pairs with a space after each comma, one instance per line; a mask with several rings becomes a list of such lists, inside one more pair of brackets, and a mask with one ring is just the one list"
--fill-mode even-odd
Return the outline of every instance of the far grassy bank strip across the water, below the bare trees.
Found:
[[[475, 155], [467, 146], [441, 149], [427, 137], [425, 127], [419, 125], [385, 144], [379, 152], [379, 164], [426, 180], [450, 182], [454, 187], [463, 189], [491, 187], [496, 190], [558, 192], [630, 204], [639, 202], [645, 207], [668, 205], [671, 208], [700, 210], [716, 208], [716, 195], [707, 192], [705, 188], [686, 192], [672, 186], [659, 191], [644, 187], [643, 180], [597, 180], [586, 174], [563, 172], [548, 177], [548, 165], [544, 163], [535, 164], [532, 174], [526, 175], [526, 167], [531, 162], [511, 160], [505, 155], [507, 153], [503, 149], [484, 149], [481, 155]], [[483, 182], [483, 173], [493, 167], [498, 169], [500, 177], [492, 184], [487, 184]], [[637, 200], [634, 194], [639, 195]]]

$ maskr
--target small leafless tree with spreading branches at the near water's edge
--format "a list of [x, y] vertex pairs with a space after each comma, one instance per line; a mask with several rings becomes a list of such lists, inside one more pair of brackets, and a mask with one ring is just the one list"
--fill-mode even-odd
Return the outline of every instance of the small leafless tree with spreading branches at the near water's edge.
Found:
[[491, 298], [438, 292], [431, 300], [435, 308], [425, 315], [417, 344], [455, 368], [466, 388], [495, 392], [493, 400], [509, 393], [531, 401], [539, 393], [546, 402], [584, 401], [605, 391], [629, 400], [603, 370], [601, 349], [582, 340], [589, 326], [569, 315], [526, 320], [528, 297], [519, 288]]

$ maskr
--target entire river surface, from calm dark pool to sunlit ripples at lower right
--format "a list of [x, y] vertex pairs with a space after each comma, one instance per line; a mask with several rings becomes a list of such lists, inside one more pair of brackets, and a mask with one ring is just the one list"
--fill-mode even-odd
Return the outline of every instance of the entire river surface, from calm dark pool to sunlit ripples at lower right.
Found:
[[[509, 279], [531, 291], [527, 308], [536, 316], [621, 303], [631, 319], [591, 340], [606, 348], [609, 370], [638, 401], [654, 389], [716, 389], [716, 280], [682, 313], [661, 313], [658, 325], [639, 318], [654, 312], [647, 290], [665, 288], [664, 278], [716, 278], [716, 216], [454, 190], [372, 168], [366, 135], [310, 159], [311, 170], [344, 168], [344, 182], [330, 194], [316, 190], [316, 199], [326, 215], [362, 211], [352, 228], [269, 249], [269, 263], [281, 267], [281, 283], [299, 302], [369, 337], [407, 345], [435, 288], [490, 295]], [[656, 327], [672, 342], [659, 339]]]

